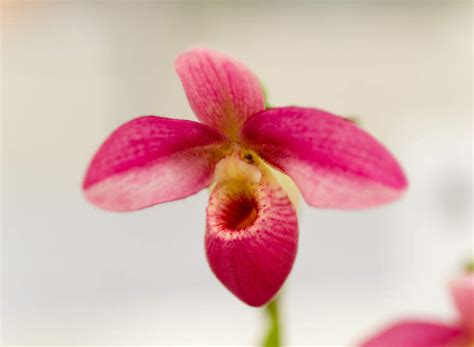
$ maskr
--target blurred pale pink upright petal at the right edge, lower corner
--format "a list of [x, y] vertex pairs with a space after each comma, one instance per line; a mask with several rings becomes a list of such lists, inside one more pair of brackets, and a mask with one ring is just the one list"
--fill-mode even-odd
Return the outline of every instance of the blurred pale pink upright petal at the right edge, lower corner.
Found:
[[465, 274], [451, 282], [451, 293], [461, 315], [463, 327], [474, 340], [474, 274]]

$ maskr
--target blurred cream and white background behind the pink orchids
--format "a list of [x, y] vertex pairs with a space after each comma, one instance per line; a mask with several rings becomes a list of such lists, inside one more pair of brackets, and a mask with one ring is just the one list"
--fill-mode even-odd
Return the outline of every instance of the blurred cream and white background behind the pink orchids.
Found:
[[138, 115], [193, 119], [174, 58], [245, 62], [273, 105], [356, 116], [410, 189], [382, 208], [301, 208], [286, 341], [349, 344], [399, 317], [455, 320], [472, 247], [472, 4], [2, 5], [3, 344], [258, 343], [263, 313], [205, 259], [207, 191], [135, 213], [85, 202], [98, 145]]

